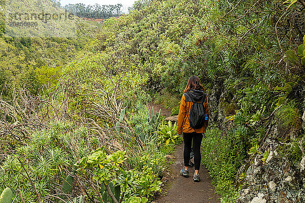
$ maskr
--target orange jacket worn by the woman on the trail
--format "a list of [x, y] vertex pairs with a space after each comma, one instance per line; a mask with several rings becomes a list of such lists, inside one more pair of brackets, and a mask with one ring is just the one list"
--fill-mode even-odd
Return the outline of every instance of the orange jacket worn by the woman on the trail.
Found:
[[[182, 132], [190, 133], [190, 132], [197, 132], [197, 133], [205, 133], [206, 127], [208, 122], [205, 122], [201, 128], [194, 129], [190, 126], [190, 111], [193, 105], [193, 101], [186, 101], [185, 94], [182, 95], [180, 101], [180, 108], [179, 108], [179, 115], [178, 115], [178, 122], [177, 122], [177, 134], [182, 134]], [[205, 112], [209, 117], [208, 112], [208, 100], [206, 98], [205, 103], [203, 103], [205, 108]], [[188, 114], [188, 116], [187, 116]]]

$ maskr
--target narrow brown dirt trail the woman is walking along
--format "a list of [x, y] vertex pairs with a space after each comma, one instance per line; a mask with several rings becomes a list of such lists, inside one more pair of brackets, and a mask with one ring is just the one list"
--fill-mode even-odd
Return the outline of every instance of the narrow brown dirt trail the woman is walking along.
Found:
[[[152, 106], [154, 106], [157, 112], [161, 109], [161, 115], [165, 118], [170, 116], [170, 112], [161, 105], [148, 104], [147, 108], [151, 111]], [[176, 151], [172, 155], [168, 156], [174, 163], [170, 165], [162, 179], [162, 182], [165, 184], [162, 193], [157, 196], [153, 203], [219, 203], [220, 197], [215, 193], [209, 174], [203, 165], [201, 165], [199, 171], [201, 180], [199, 183], [193, 181], [194, 167], [189, 169], [189, 178], [179, 175], [184, 162], [183, 150], [184, 145], [181, 144], [177, 146]]]

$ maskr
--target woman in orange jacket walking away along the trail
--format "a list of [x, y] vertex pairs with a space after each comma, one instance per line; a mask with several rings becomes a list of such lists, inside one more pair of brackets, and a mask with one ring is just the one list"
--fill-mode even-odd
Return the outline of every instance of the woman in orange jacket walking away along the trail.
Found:
[[180, 174], [189, 177], [189, 160], [193, 141], [195, 172], [193, 180], [200, 181], [199, 168], [201, 162], [200, 146], [208, 124], [208, 100], [200, 79], [191, 76], [180, 102], [177, 123], [177, 134], [183, 133], [184, 167]]

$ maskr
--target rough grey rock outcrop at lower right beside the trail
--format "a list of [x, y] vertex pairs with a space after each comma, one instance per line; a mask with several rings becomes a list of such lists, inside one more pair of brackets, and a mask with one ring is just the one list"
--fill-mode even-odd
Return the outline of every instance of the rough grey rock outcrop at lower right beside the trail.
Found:
[[[305, 120], [303, 120], [305, 123]], [[285, 145], [278, 141], [282, 131], [277, 125], [264, 142], [261, 151], [270, 149], [265, 162], [256, 155], [246, 170], [246, 185], [240, 191], [238, 203], [305, 202], [305, 156], [293, 163], [280, 152]], [[290, 136], [295, 136], [290, 133]], [[247, 164], [240, 168], [246, 169]]]

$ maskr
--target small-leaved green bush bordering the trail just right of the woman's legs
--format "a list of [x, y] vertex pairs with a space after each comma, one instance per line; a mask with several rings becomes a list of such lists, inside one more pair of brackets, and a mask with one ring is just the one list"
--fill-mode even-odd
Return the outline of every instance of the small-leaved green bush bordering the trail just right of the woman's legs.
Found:
[[206, 166], [215, 188], [227, 202], [234, 202], [237, 190], [234, 185], [238, 168], [246, 157], [242, 142], [236, 142], [234, 133], [224, 134], [214, 124], [202, 140], [202, 163]]

